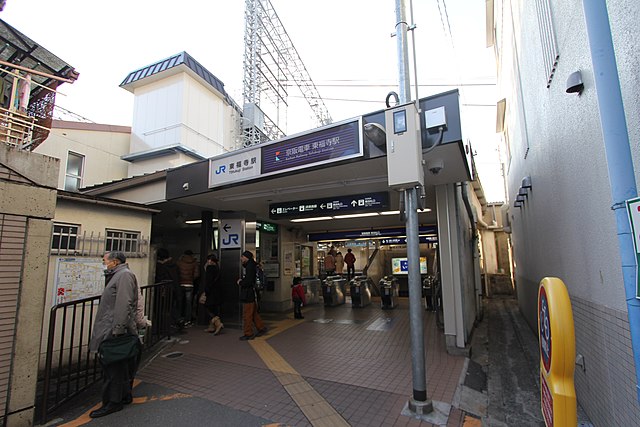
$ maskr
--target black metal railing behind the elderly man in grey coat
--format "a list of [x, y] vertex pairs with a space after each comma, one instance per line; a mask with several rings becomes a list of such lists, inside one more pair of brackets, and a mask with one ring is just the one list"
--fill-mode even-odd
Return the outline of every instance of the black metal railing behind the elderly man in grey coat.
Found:
[[[171, 337], [171, 282], [140, 288], [145, 314], [152, 326], [144, 335], [143, 351]], [[102, 378], [96, 354], [89, 352], [89, 339], [100, 296], [65, 302], [51, 307], [47, 352], [40, 396], [41, 423], [65, 402]]]

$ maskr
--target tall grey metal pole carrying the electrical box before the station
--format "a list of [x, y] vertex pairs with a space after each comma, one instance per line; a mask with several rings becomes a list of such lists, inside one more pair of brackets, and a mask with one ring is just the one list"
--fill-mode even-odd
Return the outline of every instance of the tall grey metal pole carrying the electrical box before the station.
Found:
[[[404, 0], [396, 0], [396, 46], [398, 52], [399, 98], [404, 104], [411, 100], [407, 20]], [[420, 144], [420, 141], [415, 142]], [[427, 375], [424, 349], [424, 316], [422, 312], [422, 283], [420, 282], [420, 237], [418, 233], [418, 195], [416, 188], [404, 190], [404, 206], [407, 235], [407, 261], [409, 273], [409, 328], [411, 337], [411, 365], [413, 396], [409, 409], [418, 414], [433, 411], [427, 399]]]

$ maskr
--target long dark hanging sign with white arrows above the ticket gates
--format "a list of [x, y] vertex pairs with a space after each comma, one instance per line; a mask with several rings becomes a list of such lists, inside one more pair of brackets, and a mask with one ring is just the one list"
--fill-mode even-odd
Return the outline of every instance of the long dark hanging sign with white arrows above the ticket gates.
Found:
[[271, 219], [305, 218], [353, 212], [376, 212], [385, 209], [389, 209], [389, 193], [369, 193], [273, 203], [269, 205], [269, 217]]

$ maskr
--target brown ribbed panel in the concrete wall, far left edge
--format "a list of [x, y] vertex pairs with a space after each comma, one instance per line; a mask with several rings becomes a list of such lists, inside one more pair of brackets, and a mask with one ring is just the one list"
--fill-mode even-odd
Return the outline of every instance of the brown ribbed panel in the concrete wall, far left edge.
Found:
[[27, 217], [0, 214], [0, 415], [6, 416]]

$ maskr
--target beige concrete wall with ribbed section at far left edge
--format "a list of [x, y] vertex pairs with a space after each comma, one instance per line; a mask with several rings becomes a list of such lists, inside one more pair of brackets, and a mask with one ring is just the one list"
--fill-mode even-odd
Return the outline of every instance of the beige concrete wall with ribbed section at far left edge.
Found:
[[[59, 162], [51, 157], [0, 146], [0, 269], [17, 268], [9, 283], [3, 281], [0, 323], [13, 317], [9, 336], [3, 337], [0, 374], [0, 423], [10, 426], [33, 425], [40, 340], [45, 304], [46, 271], [49, 262], [51, 220], [55, 211]], [[10, 228], [5, 228], [5, 222]], [[16, 236], [16, 224], [23, 232]], [[16, 258], [17, 257], [17, 258]], [[18, 263], [12, 262], [17, 260]], [[17, 273], [17, 274], [16, 274]], [[9, 291], [8, 293], [5, 293]], [[13, 305], [11, 302], [13, 301]], [[4, 335], [4, 334], [3, 334]], [[8, 346], [6, 345], [8, 344]], [[8, 360], [6, 349], [10, 349]], [[8, 369], [7, 369], [8, 368]]]

